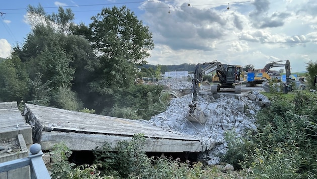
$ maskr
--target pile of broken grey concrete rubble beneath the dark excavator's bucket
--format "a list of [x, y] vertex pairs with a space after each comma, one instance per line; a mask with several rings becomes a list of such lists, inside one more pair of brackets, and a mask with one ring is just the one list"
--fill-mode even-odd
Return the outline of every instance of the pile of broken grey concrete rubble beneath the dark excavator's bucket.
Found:
[[[173, 81], [174, 82], [174, 81]], [[171, 83], [168, 81], [167, 84]], [[173, 83], [176, 85], [178, 82]], [[184, 83], [184, 81], [183, 81]], [[191, 83], [187, 82], [191, 87]], [[175, 90], [180, 89], [174, 87]], [[202, 158], [208, 164], [218, 164], [226, 153], [227, 143], [224, 139], [226, 131], [235, 132], [236, 136], [244, 134], [244, 129], [256, 129], [256, 113], [270, 102], [258, 91], [250, 91], [240, 96], [217, 94], [199, 95], [197, 107], [209, 116], [204, 124], [190, 122], [186, 119], [189, 113], [191, 94], [171, 101], [169, 108], [152, 117], [146, 123], [200, 138], [205, 148]]]

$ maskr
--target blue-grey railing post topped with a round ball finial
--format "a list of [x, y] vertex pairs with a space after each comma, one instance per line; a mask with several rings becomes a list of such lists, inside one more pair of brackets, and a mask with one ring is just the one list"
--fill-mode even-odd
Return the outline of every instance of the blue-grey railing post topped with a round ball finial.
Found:
[[48, 173], [48, 170], [45, 166], [45, 163], [42, 159], [43, 152], [41, 150], [41, 145], [35, 143], [30, 147], [30, 159], [31, 159], [31, 178], [33, 179], [41, 179], [41, 178], [48, 178], [50, 179], [51, 176]]

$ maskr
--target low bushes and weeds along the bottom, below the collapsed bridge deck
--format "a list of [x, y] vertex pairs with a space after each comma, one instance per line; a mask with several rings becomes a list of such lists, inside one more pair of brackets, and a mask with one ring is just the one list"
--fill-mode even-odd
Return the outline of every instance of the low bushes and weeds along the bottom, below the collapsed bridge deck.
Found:
[[52, 178], [235, 178], [238, 172], [221, 170], [216, 166], [203, 166], [201, 162], [180, 162], [162, 155], [148, 158], [142, 150], [145, 138], [135, 134], [131, 141], [120, 141], [117, 152], [110, 144], [97, 147], [91, 166], [74, 166], [67, 161], [70, 151], [64, 144], [55, 145], [52, 151]]

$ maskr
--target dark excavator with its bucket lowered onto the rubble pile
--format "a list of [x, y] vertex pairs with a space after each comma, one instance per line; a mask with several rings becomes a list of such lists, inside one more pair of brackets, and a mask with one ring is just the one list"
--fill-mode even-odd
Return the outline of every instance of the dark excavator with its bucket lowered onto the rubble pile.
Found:
[[[207, 65], [201, 69], [201, 65]], [[211, 85], [211, 92], [217, 93], [220, 88], [233, 88], [235, 93], [241, 93], [241, 84], [243, 81], [243, 67], [240, 65], [221, 64], [217, 60], [212, 62], [198, 63], [195, 68], [194, 77], [192, 78], [192, 101], [189, 105], [190, 110], [187, 115], [189, 121], [204, 123], [207, 116], [197, 107], [198, 93], [200, 84], [203, 81], [203, 75], [216, 72], [218, 83]], [[242, 76], [241, 76], [242, 75]]]

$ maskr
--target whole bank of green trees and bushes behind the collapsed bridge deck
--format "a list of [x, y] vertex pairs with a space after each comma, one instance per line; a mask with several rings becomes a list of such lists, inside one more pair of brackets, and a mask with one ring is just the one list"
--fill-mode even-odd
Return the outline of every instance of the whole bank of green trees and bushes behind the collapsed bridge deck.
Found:
[[[74, 24], [70, 9], [46, 14], [39, 5], [27, 12], [32, 32], [0, 62], [2, 101], [130, 119], [165, 111], [162, 86], [134, 84], [135, 67], [146, 63], [154, 44], [125, 6], [103, 9], [88, 26]], [[161, 77], [161, 66], [155, 69], [142, 72]]]

